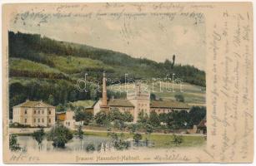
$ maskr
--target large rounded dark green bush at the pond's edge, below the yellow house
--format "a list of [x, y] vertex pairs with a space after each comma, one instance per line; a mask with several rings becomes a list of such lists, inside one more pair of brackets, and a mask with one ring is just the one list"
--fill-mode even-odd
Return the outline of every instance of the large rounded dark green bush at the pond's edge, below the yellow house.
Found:
[[57, 124], [49, 131], [47, 139], [53, 141], [53, 147], [64, 148], [73, 134], [67, 127]]

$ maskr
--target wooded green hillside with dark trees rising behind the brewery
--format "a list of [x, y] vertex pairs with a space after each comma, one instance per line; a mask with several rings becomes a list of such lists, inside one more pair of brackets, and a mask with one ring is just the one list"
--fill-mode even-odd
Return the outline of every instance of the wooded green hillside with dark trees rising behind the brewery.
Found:
[[44, 100], [52, 105], [98, 99], [100, 93], [76, 90], [78, 78], [85, 73], [88, 73], [88, 80], [101, 81], [102, 71], [106, 71], [109, 78], [119, 78], [122, 82], [125, 73], [134, 79], [164, 78], [175, 73], [184, 82], [205, 87], [205, 72], [194, 66], [174, 64], [174, 53], [169, 60], [156, 62], [21, 32], [8, 32], [8, 46], [11, 117], [13, 105], [26, 99]]

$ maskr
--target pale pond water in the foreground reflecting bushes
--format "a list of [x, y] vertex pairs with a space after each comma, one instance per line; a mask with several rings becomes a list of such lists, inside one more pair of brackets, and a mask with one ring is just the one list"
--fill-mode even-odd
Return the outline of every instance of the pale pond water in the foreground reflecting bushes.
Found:
[[[136, 144], [133, 142], [133, 140], [126, 140], [128, 143], [127, 149], [141, 149], [141, 148], [147, 148], [149, 143], [144, 144], [143, 142], [140, 142], [139, 144]], [[40, 151], [110, 151], [110, 150], [116, 150], [117, 148], [113, 144], [113, 140], [108, 137], [99, 137], [99, 136], [93, 136], [93, 135], [85, 135], [82, 139], [78, 139], [77, 137], [73, 137], [72, 140], [70, 140], [66, 145], [64, 149], [60, 148], [54, 148], [53, 142], [48, 141], [47, 139], [43, 140], [42, 146], [39, 149], [38, 142], [33, 139], [32, 136], [28, 135], [18, 135], [18, 144], [22, 149], [25, 149], [26, 151], [30, 150], [40, 150]]]

